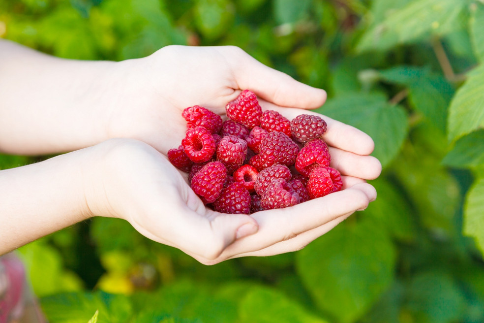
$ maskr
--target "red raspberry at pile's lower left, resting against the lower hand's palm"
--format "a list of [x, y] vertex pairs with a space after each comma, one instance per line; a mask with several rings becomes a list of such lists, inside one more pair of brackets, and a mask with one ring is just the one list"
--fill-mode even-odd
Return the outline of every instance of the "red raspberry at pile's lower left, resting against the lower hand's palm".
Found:
[[209, 162], [192, 178], [191, 188], [205, 204], [213, 203], [222, 193], [227, 169], [221, 162]]

